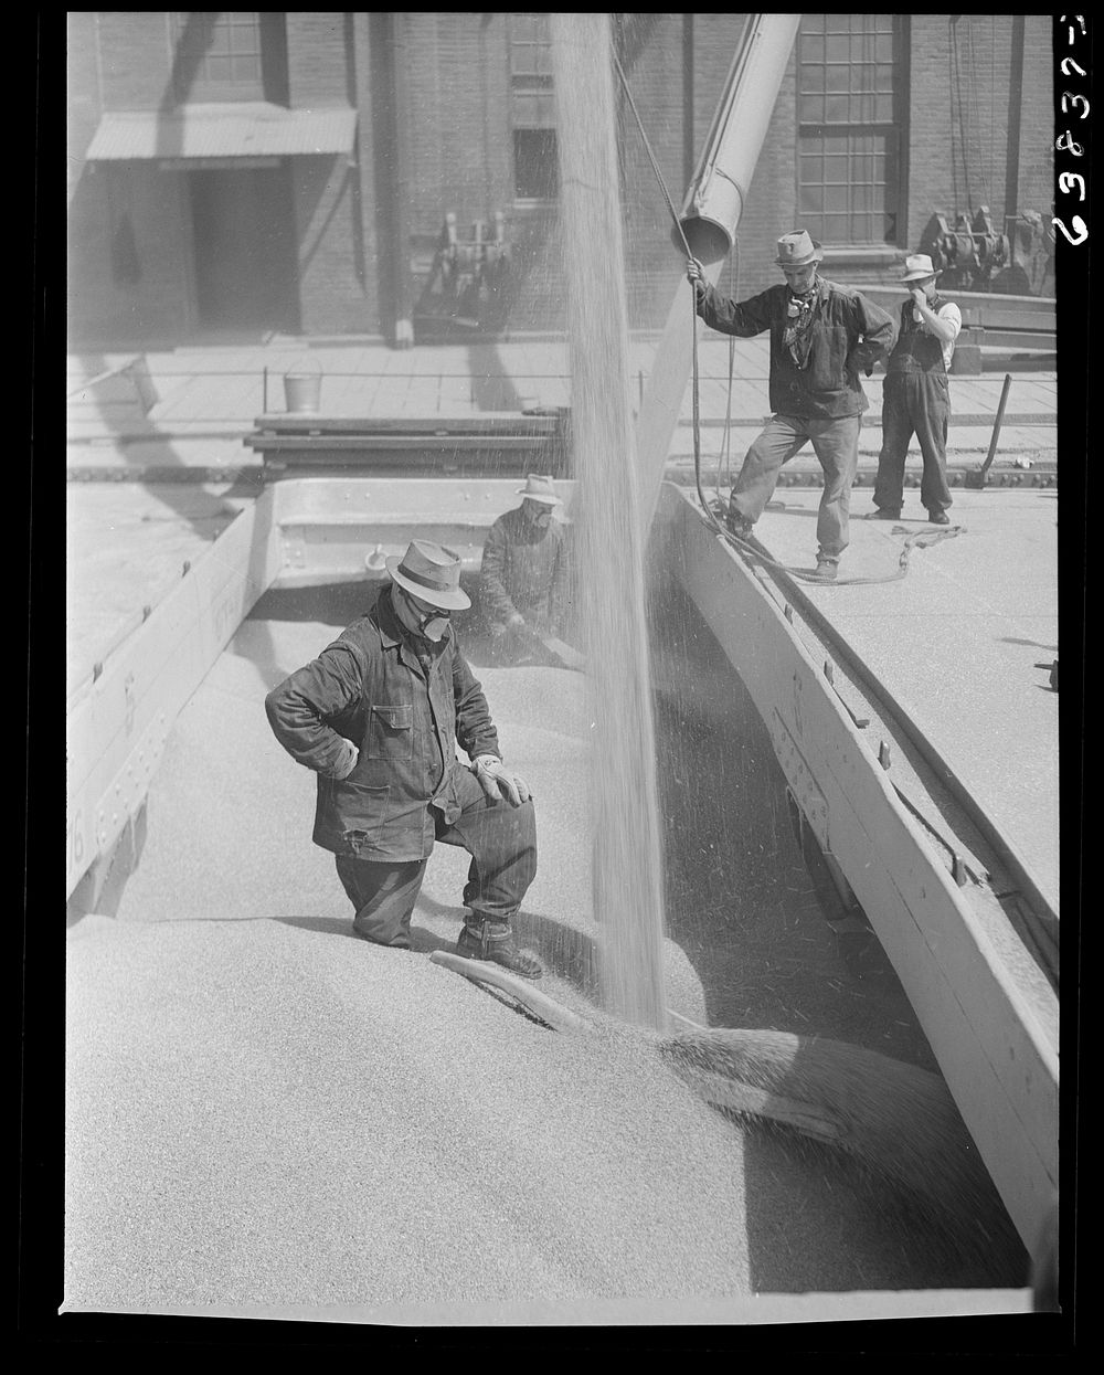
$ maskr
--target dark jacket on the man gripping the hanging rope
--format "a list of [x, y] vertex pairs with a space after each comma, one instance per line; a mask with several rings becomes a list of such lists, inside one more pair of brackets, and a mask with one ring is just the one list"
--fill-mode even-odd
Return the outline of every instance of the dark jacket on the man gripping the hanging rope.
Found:
[[894, 345], [894, 319], [874, 305], [822, 276], [817, 278], [813, 346], [808, 366], [799, 368], [782, 342], [789, 287], [770, 286], [748, 301], [733, 301], [716, 287], [697, 296], [697, 314], [722, 334], [752, 338], [770, 330], [770, 408], [775, 415], [839, 419], [862, 415], [870, 404], [859, 381]]

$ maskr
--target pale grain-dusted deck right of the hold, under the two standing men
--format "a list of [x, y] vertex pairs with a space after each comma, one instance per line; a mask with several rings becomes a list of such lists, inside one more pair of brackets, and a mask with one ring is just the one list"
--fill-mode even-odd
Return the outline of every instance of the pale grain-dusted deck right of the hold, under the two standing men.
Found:
[[[788, 490], [756, 522], [756, 539], [786, 566], [815, 561], [818, 494]], [[902, 521], [863, 520], [852, 500], [851, 544], [839, 582], [802, 591], [935, 747], [1015, 847], [1059, 910], [1059, 532], [1053, 491], [958, 491], [951, 538], [918, 494]]]

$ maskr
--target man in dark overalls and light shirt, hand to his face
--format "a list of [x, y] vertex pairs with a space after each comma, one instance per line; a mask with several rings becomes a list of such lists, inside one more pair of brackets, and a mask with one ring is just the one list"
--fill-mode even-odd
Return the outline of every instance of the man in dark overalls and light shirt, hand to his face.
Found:
[[947, 426], [954, 341], [962, 314], [936, 292], [936, 272], [927, 253], [905, 258], [902, 286], [909, 300], [901, 307], [901, 329], [885, 364], [881, 389], [881, 452], [874, 483], [876, 520], [901, 520], [905, 499], [905, 458], [916, 434], [924, 456], [920, 500], [935, 525], [949, 525]]

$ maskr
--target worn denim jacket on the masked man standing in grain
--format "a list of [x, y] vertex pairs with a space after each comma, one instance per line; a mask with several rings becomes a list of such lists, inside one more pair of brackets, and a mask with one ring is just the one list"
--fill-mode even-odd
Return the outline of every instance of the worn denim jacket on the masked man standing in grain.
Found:
[[[450, 626], [423, 659], [400, 626], [390, 587], [371, 610], [272, 689], [265, 712], [291, 758], [318, 774], [313, 842], [334, 854], [406, 862], [433, 850], [437, 807], [459, 817], [456, 777], [470, 759], [499, 755], [483, 688]], [[360, 751], [334, 777], [345, 747]]]

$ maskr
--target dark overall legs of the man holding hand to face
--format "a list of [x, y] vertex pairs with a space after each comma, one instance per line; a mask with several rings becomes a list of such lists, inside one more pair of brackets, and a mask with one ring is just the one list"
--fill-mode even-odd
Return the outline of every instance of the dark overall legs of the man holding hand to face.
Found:
[[920, 500], [931, 516], [951, 503], [947, 487], [950, 382], [946, 373], [890, 373], [881, 389], [881, 452], [874, 506], [899, 512], [905, 500], [905, 459], [916, 434], [924, 455]]

